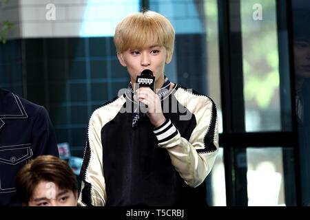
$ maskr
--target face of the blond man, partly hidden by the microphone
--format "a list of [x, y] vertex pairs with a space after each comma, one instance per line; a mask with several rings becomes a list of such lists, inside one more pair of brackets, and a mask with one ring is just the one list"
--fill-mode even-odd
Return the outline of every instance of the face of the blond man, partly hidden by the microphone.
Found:
[[161, 87], [164, 80], [167, 50], [163, 46], [150, 45], [143, 49], [129, 49], [117, 54], [121, 65], [127, 67], [132, 83], [136, 83], [136, 76], [140, 76], [144, 69], [152, 70], [155, 76], [156, 88]]

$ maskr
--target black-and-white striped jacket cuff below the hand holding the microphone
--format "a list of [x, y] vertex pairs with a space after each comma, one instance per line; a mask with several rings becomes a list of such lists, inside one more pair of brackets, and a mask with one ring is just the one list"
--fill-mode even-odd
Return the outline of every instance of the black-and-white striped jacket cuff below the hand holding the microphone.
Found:
[[178, 130], [169, 119], [166, 119], [166, 121], [161, 126], [155, 128], [153, 132], [157, 137], [158, 143], [170, 140], [178, 134]]

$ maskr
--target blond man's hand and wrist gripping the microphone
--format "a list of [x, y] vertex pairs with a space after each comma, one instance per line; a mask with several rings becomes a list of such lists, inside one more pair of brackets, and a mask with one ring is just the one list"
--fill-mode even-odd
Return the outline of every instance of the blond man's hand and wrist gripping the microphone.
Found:
[[136, 90], [134, 100], [147, 105], [147, 117], [155, 127], [161, 126], [165, 122], [166, 118], [161, 110], [161, 100], [152, 89], [140, 87]]

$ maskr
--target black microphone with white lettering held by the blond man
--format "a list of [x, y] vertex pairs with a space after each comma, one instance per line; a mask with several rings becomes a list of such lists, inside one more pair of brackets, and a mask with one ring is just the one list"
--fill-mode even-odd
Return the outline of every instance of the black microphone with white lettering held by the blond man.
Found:
[[[155, 89], [155, 76], [153, 75], [152, 70], [150, 69], [144, 69], [143, 72], [141, 72], [141, 76], [136, 77], [136, 84], [138, 87], [149, 87], [154, 91]], [[140, 109], [142, 113], [147, 113], [147, 105], [143, 103], [139, 103]], [[143, 114], [144, 115], [144, 114]]]

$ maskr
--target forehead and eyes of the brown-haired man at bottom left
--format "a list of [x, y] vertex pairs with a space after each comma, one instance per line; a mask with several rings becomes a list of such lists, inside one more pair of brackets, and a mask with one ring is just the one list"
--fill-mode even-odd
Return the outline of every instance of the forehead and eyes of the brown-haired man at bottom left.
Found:
[[34, 188], [28, 206], [76, 206], [77, 192], [60, 189], [53, 182], [40, 181]]

